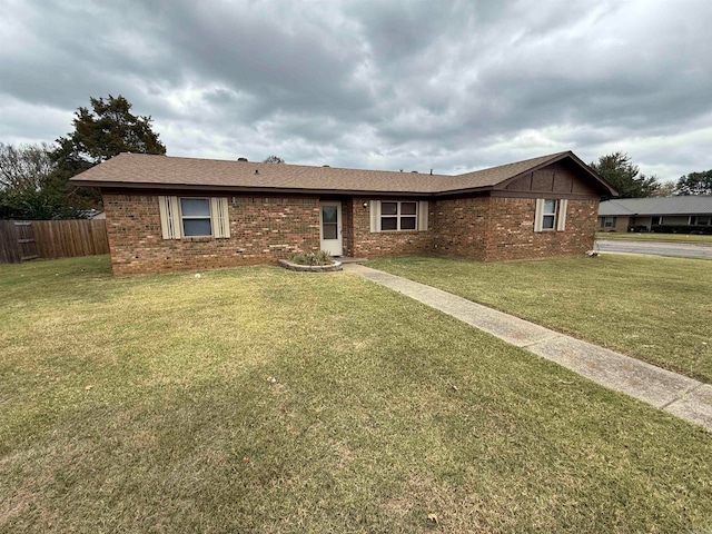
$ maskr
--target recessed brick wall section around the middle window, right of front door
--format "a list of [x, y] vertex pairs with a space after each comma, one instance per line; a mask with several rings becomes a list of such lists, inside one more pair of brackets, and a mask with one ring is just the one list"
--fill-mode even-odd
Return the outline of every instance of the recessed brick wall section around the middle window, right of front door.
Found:
[[[380, 256], [405, 256], [411, 254], [433, 254], [432, 229], [427, 231], [370, 231], [370, 200], [368, 197], [355, 197], [345, 202], [348, 207], [344, 220], [353, 221], [349, 234], [344, 243], [344, 254], [355, 258], [377, 258]], [[366, 204], [366, 208], [364, 208]], [[433, 228], [433, 202], [429, 206], [429, 224]]]

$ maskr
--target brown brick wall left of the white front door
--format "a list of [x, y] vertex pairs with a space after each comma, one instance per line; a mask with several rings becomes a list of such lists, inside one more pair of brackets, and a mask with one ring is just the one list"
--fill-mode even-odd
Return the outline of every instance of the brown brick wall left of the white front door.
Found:
[[155, 195], [103, 194], [116, 275], [274, 263], [319, 248], [318, 198], [228, 197], [230, 238], [164, 239]]

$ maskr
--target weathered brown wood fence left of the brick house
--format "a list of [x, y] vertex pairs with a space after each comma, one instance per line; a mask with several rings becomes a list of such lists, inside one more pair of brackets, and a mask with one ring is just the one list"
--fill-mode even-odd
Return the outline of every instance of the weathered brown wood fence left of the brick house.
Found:
[[0, 264], [108, 253], [102, 219], [0, 220]]

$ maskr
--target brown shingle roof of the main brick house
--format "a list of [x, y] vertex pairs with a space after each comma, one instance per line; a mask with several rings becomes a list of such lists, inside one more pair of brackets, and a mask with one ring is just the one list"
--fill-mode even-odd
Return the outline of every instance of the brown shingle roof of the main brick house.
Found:
[[96, 187], [186, 186], [253, 190], [437, 194], [488, 189], [564, 158], [572, 158], [593, 178], [599, 179], [572, 152], [552, 154], [459, 176], [121, 154], [73, 177], [72, 181]]

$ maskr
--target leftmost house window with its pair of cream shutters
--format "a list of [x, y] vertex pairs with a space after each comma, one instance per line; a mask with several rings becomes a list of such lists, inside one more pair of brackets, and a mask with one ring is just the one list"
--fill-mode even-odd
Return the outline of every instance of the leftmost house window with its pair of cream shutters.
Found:
[[227, 198], [158, 197], [164, 239], [230, 237]]

